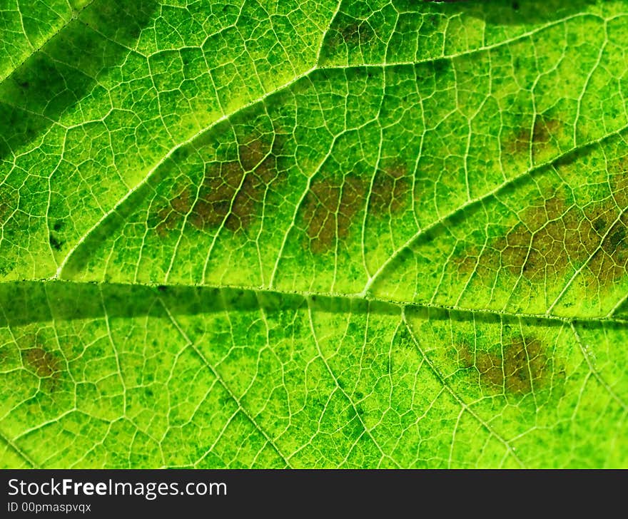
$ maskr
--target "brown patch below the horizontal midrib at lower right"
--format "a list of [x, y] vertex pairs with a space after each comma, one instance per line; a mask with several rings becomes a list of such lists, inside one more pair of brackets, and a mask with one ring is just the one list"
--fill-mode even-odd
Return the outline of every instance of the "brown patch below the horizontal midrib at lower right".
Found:
[[534, 337], [515, 337], [491, 351], [460, 342], [456, 351], [460, 368], [477, 371], [482, 387], [492, 393], [523, 396], [552, 384], [552, 359]]

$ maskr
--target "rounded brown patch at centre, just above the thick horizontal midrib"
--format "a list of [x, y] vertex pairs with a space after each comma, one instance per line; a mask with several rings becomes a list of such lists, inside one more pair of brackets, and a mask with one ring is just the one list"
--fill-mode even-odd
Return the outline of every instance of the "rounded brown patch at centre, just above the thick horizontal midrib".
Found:
[[348, 237], [355, 216], [365, 206], [369, 184], [367, 178], [355, 176], [315, 181], [303, 205], [304, 247], [328, 252]]

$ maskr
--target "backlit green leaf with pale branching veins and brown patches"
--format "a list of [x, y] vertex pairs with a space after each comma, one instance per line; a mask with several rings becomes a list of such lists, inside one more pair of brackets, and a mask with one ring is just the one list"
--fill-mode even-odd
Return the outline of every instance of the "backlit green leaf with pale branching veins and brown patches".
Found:
[[625, 0], [5, 4], [1, 466], [627, 466]]

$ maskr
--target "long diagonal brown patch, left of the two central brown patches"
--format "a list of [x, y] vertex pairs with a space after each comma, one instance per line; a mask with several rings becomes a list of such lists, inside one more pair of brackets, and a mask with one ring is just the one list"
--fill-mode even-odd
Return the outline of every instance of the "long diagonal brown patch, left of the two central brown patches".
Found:
[[278, 154], [283, 140], [259, 136], [238, 146], [238, 160], [206, 165], [200, 186], [179, 187], [157, 211], [156, 230], [164, 237], [183, 220], [198, 230], [224, 226], [231, 232], [247, 229], [258, 219], [268, 185], [278, 179]]

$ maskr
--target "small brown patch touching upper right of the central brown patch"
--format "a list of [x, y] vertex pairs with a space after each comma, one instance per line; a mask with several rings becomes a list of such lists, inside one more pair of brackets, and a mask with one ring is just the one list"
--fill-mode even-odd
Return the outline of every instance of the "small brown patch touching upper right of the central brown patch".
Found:
[[369, 212], [387, 215], [400, 212], [410, 196], [411, 185], [404, 166], [395, 165], [375, 173], [369, 198]]

